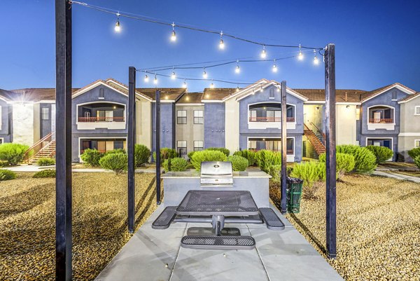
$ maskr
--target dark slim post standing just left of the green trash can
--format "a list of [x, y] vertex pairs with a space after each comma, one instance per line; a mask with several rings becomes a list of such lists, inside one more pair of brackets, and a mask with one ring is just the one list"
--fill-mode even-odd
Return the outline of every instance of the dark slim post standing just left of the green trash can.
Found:
[[286, 187], [287, 187], [287, 104], [286, 81], [281, 81], [281, 214], [286, 214]]

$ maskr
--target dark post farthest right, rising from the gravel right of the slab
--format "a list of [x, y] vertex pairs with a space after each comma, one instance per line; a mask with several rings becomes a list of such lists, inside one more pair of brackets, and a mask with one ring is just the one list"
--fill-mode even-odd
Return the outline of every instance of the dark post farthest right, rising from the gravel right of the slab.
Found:
[[326, 244], [330, 259], [337, 257], [336, 245], [336, 158], [335, 158], [335, 45], [325, 50], [325, 138], [326, 138]]

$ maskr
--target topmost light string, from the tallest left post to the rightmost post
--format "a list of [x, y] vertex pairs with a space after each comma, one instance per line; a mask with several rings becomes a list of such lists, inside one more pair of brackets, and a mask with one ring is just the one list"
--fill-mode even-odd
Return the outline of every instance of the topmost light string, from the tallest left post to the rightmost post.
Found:
[[[279, 44], [270, 44], [270, 43], [264, 43], [264, 42], [260, 42], [260, 41], [253, 41], [251, 39], [245, 39], [243, 37], [239, 37], [233, 34], [228, 34], [225, 32], [216, 32], [214, 30], [210, 30], [210, 29], [204, 29], [204, 28], [200, 28], [200, 27], [191, 27], [188, 25], [178, 25], [175, 24], [174, 22], [170, 23], [170, 22], [165, 22], [163, 20], [155, 20], [153, 18], [148, 18], [144, 15], [135, 15], [135, 14], [131, 14], [131, 13], [125, 13], [125, 12], [121, 12], [121, 11], [116, 11], [110, 8], [104, 8], [104, 7], [100, 7], [100, 6], [94, 6], [91, 4], [87, 4], [84, 2], [79, 2], [79, 1], [71, 1], [69, 0], [70, 4], [78, 4], [80, 6], [86, 7], [86, 8], [91, 8], [93, 10], [96, 11], [101, 11], [103, 13], [109, 13], [109, 14], [113, 14], [113, 15], [117, 15], [118, 16], [118, 25], [119, 25], [119, 18], [130, 18], [133, 20], [140, 20], [142, 22], [151, 22], [157, 25], [166, 25], [166, 26], [170, 26], [172, 27], [172, 35], [174, 35], [175, 33], [175, 27], [178, 29], [189, 29], [189, 30], [193, 30], [196, 32], [205, 32], [205, 33], [210, 33], [210, 34], [218, 34], [220, 36], [220, 45], [222, 45], [224, 48], [224, 42], [223, 42], [223, 37], [226, 38], [232, 38], [235, 40], [239, 40], [239, 41], [244, 41], [244, 42], [248, 42], [248, 43], [253, 43], [255, 45], [259, 45], [262, 46], [262, 53], [265, 53], [265, 47], [278, 47], [278, 48], [300, 48], [300, 49], [310, 49], [310, 50], [323, 50], [323, 48], [319, 48], [319, 47], [309, 47], [309, 46], [301, 46], [301, 45], [279, 45]], [[174, 38], [174, 37], [172, 37]], [[175, 40], [173, 40], [175, 41]]]

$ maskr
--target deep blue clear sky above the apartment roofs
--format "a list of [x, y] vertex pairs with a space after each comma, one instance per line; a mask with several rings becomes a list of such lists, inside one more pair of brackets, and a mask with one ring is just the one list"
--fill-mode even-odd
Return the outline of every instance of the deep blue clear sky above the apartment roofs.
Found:
[[[55, 86], [55, 13], [51, 0], [1, 0], [0, 88]], [[420, 90], [420, 1], [134, 1], [86, 0], [119, 11], [223, 30], [265, 43], [307, 46], [336, 44], [337, 88], [372, 90], [400, 82]], [[256, 57], [260, 46], [218, 35], [176, 30], [122, 18], [123, 32], [115, 34], [115, 16], [73, 6], [73, 87], [102, 78], [127, 83], [127, 68]], [[290, 54], [289, 49], [267, 48], [267, 58]], [[209, 69], [209, 78], [286, 80], [292, 88], [323, 88], [323, 64], [314, 67], [313, 54], [303, 62], [241, 64]], [[169, 74], [170, 71], [167, 71]], [[177, 71], [200, 78], [202, 71]], [[139, 74], [138, 86], [144, 87]], [[160, 78], [162, 87], [182, 81]], [[149, 86], [152, 85], [151, 83]], [[189, 82], [190, 91], [208, 82]], [[218, 87], [232, 86], [216, 83]]]

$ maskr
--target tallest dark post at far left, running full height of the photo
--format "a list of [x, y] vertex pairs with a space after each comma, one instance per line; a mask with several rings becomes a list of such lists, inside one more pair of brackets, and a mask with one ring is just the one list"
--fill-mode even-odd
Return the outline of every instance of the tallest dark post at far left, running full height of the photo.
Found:
[[71, 280], [71, 4], [55, 0], [55, 279]]

